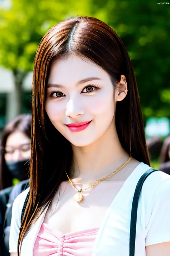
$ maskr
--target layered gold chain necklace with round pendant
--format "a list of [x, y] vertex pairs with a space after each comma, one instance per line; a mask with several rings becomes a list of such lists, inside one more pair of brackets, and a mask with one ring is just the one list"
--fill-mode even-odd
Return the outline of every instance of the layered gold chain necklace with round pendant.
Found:
[[[118, 171], [120, 171], [120, 170], [131, 160], [131, 158], [132, 158], [132, 156], [130, 156], [129, 159], [128, 159], [125, 163], [123, 163], [123, 165], [121, 165], [117, 170], [115, 170], [114, 172], [112, 172], [111, 174], [109, 174], [108, 176], [106, 176], [105, 178], [98, 179], [98, 180], [92, 180], [92, 181], [88, 181], [88, 182], [83, 182], [83, 183], [74, 183], [74, 182], [72, 182], [71, 179], [69, 178], [69, 175], [68, 175], [67, 172], [65, 171], [65, 172], [66, 172], [66, 175], [67, 175], [67, 178], [68, 178], [69, 182], [71, 183], [72, 187], [73, 187], [74, 189], [76, 189], [76, 190], [79, 192], [79, 193], [76, 193], [76, 194], [74, 195], [74, 197], [73, 197], [74, 200], [75, 200], [76, 202], [80, 203], [80, 202], [82, 201], [82, 199], [83, 199], [83, 195], [81, 194], [82, 191], [96, 186], [97, 184], [99, 184], [100, 181], [105, 180], [105, 179], [108, 179], [110, 176], [112, 176], [113, 174], [115, 174], [115, 173], [117, 173]], [[92, 182], [95, 182], [95, 181], [97, 181], [97, 182], [96, 182], [94, 185], [91, 185], [90, 187], [85, 188], [85, 189], [77, 189], [77, 188], [75, 187], [75, 185], [74, 185], [74, 184], [88, 184], [88, 183], [92, 183]]]

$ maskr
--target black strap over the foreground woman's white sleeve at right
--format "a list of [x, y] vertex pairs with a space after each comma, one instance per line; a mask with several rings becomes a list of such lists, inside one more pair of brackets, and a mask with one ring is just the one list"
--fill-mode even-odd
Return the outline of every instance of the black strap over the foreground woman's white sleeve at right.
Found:
[[131, 211], [131, 226], [130, 226], [130, 239], [129, 239], [129, 256], [134, 256], [135, 250], [135, 241], [136, 241], [136, 221], [137, 221], [137, 208], [138, 208], [138, 200], [140, 196], [140, 192], [142, 189], [142, 185], [146, 180], [147, 176], [149, 176], [152, 172], [159, 171], [156, 169], [147, 170], [140, 178], [136, 185], [136, 189], [134, 191], [133, 202], [132, 202], [132, 211]]

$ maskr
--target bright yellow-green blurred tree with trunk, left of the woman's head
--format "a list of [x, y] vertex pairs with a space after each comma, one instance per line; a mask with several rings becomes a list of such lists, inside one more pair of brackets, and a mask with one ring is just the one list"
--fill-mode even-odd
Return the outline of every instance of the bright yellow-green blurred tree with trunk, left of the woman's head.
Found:
[[[89, 0], [11, 0], [0, 9], [0, 65], [13, 72], [15, 115], [22, 112], [22, 85], [33, 69], [39, 42], [47, 30], [70, 16], [89, 14]], [[76, 10], [76, 11], [75, 11]]]

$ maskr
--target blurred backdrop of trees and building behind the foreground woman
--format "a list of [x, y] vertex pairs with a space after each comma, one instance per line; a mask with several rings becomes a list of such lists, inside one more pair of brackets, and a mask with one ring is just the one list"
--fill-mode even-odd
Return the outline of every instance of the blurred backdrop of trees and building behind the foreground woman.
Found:
[[[170, 134], [170, 4], [156, 0], [0, 0], [0, 134], [31, 112], [33, 60], [47, 30], [76, 15], [93, 16], [121, 37], [132, 60], [152, 167]], [[166, 2], [164, 2], [166, 3]]]

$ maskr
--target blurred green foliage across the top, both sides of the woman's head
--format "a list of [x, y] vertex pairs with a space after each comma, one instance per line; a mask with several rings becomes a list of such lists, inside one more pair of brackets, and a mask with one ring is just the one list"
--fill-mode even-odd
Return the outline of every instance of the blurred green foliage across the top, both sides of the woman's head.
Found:
[[11, 0], [0, 10], [0, 65], [28, 72], [37, 46], [57, 22], [75, 15], [109, 24], [126, 46], [141, 97], [144, 120], [170, 117], [170, 8], [155, 0]]

